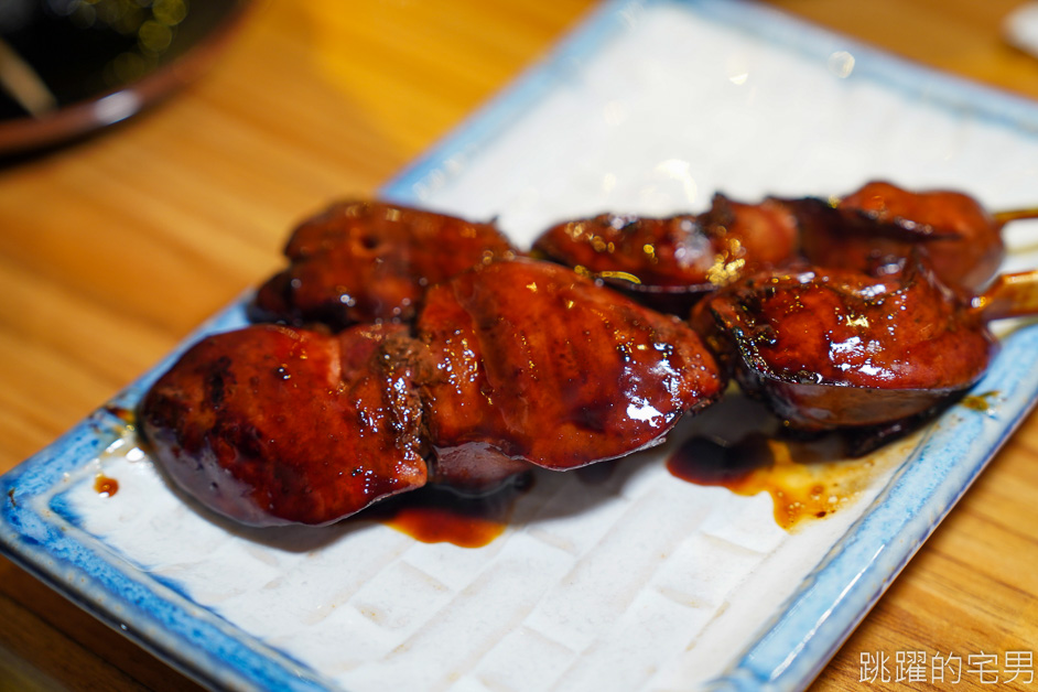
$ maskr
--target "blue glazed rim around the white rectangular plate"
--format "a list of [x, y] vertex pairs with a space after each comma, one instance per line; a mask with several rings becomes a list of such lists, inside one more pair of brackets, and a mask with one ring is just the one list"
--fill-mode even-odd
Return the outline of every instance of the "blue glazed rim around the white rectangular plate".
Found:
[[[458, 153], [478, 155], [482, 145], [507, 131], [531, 104], [558, 88], [565, 79], [570, 58], [593, 55], [609, 36], [623, 31], [625, 11], [655, 4], [686, 8], [781, 50], [814, 56], [835, 50], [867, 53], [868, 73], [862, 76], [887, 88], [918, 95], [925, 84], [930, 104], [1023, 132], [1038, 132], [1038, 106], [1030, 101], [937, 74], [748, 0], [612, 0], [544, 61], [385, 185], [382, 195], [399, 202], [418, 201], [422, 186], [443, 173], [445, 162]], [[132, 410], [150, 383], [187, 345], [203, 334], [245, 324], [245, 300], [203, 325], [148, 374], [53, 444], [0, 477], [0, 550], [203, 684], [227, 689], [333, 689], [318, 672], [120, 563], [102, 543], [63, 526], [60, 517], [41, 511], [33, 501], [45, 497], [64, 474], [95, 458], [122, 433], [126, 422], [119, 411]], [[937, 425], [763, 634], [711, 683], [711, 689], [797, 690], [810, 683], [1034, 407], [1038, 394], [1038, 369], [1031, 367], [1034, 354], [1038, 354], [1038, 327], [1020, 328], [1005, 339], [1003, 352], [976, 388], [998, 392], [997, 418], [956, 409], [949, 414], [954, 417], [953, 425], [947, 421]]]

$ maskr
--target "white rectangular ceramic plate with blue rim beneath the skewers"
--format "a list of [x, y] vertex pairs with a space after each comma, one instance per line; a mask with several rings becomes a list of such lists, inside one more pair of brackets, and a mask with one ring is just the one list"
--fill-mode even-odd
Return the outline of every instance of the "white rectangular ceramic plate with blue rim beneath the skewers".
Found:
[[[876, 177], [1017, 208], [1035, 202], [1036, 161], [1034, 104], [753, 3], [650, 0], [602, 6], [383, 192], [497, 217], [522, 246], [604, 210], [840, 195]], [[1007, 267], [1038, 263], [1020, 240], [1034, 230], [1009, 227]], [[237, 304], [203, 332], [244, 322]], [[821, 484], [824, 518], [786, 530], [767, 491], [668, 473], [698, 430], [757, 424], [733, 400], [597, 483], [539, 476], [478, 549], [364, 519], [246, 531], [185, 502], [126, 417], [173, 354], [2, 478], [0, 545], [216, 688], [796, 690], [1029, 410], [1038, 331], [1003, 333], [976, 389], [986, 407], [865, 459], [793, 464]], [[99, 494], [98, 475], [118, 493]]]

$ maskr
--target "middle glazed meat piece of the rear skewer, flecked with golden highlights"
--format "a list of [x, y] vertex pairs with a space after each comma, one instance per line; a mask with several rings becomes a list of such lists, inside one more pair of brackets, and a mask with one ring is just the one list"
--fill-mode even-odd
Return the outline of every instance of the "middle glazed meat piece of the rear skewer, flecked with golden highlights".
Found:
[[700, 216], [602, 214], [559, 224], [533, 249], [653, 307], [684, 313], [704, 292], [796, 257], [797, 226], [772, 201], [748, 205], [718, 194]]

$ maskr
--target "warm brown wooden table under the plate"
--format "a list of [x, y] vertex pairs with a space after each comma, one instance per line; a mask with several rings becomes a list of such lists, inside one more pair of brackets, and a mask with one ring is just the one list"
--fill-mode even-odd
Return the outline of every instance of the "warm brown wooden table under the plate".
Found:
[[[279, 266], [286, 230], [302, 215], [371, 193], [592, 4], [259, 4], [212, 71], [159, 108], [75, 147], [3, 165], [0, 472]], [[1016, 0], [776, 4], [1038, 97], [1038, 61], [999, 39]], [[857, 688], [863, 652], [893, 661], [897, 651], [1032, 651], [1036, 562], [1031, 417], [815, 688]], [[65, 688], [193, 683], [0, 559], [0, 690]]]

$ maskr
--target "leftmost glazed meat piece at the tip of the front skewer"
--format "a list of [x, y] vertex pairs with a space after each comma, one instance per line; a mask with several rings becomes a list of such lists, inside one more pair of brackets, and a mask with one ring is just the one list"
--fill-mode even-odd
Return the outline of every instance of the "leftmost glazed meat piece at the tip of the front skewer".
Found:
[[396, 326], [208, 336], [147, 393], [142, 431], [167, 476], [217, 512], [335, 521], [425, 483], [412, 363], [387, 356], [400, 338]]

